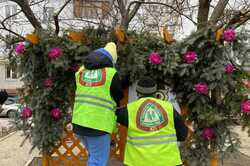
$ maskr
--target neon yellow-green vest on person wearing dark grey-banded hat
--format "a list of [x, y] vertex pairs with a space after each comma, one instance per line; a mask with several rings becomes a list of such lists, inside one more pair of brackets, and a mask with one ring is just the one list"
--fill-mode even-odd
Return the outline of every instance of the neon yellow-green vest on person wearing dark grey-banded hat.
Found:
[[124, 164], [128, 166], [182, 164], [172, 104], [147, 97], [128, 104], [127, 108], [129, 126]]

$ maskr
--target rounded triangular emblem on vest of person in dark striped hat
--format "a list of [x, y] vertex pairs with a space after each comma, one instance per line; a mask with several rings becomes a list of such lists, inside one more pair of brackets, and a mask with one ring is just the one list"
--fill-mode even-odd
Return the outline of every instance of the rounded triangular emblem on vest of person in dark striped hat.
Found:
[[144, 101], [137, 111], [136, 126], [141, 130], [156, 131], [167, 124], [167, 112], [153, 100]]

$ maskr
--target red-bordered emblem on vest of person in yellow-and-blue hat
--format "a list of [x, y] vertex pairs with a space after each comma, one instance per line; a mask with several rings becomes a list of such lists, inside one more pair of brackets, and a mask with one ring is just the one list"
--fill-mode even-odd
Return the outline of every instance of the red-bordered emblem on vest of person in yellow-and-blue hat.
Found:
[[80, 84], [85, 86], [101, 86], [106, 81], [106, 70], [84, 70], [80, 73]]

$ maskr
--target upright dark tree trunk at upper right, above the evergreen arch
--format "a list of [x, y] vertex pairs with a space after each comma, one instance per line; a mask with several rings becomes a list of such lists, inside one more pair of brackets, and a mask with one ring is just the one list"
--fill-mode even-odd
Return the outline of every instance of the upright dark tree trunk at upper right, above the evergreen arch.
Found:
[[199, 0], [199, 9], [197, 17], [198, 30], [207, 26], [209, 7], [210, 7], [210, 0]]

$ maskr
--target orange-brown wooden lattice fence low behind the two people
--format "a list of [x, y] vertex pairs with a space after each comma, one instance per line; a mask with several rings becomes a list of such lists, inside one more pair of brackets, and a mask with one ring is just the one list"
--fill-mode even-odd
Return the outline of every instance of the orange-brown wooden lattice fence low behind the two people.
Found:
[[[110, 160], [123, 160], [126, 128], [119, 126], [118, 134], [112, 135]], [[66, 125], [63, 137], [51, 153], [44, 154], [43, 166], [86, 166], [87, 151], [72, 131], [72, 124]]]

